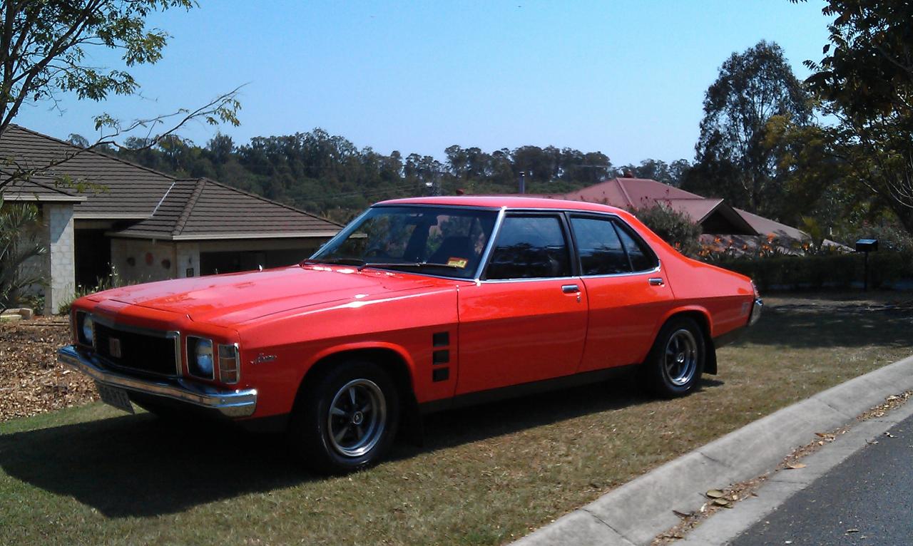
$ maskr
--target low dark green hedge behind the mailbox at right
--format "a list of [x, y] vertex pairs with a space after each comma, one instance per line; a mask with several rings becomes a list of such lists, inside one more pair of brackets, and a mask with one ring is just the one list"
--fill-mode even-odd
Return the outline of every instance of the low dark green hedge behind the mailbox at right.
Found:
[[[913, 279], [913, 252], [869, 254], [869, 286], [885, 288]], [[716, 265], [752, 278], [758, 289], [845, 289], [861, 283], [864, 257], [855, 252], [761, 258], [722, 257]]]

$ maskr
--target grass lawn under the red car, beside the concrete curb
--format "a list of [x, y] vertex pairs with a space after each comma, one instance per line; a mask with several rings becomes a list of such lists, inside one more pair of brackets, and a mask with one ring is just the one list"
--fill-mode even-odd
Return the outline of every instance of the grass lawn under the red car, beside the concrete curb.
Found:
[[[785, 405], [913, 353], [903, 294], [766, 300], [696, 394], [630, 379], [433, 415], [343, 478], [281, 439], [100, 404], [0, 423], [0, 544], [498, 544]], [[721, 487], [727, 484], [719, 484]]]

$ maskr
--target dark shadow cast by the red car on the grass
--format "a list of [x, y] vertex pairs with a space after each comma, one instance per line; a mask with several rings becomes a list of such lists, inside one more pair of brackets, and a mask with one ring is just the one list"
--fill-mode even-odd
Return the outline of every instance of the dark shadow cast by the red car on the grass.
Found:
[[[718, 386], [705, 381], [703, 388]], [[652, 399], [630, 376], [427, 415], [421, 441], [404, 430], [399, 460]], [[197, 422], [175, 427], [124, 415], [0, 436], [0, 467], [34, 487], [77, 499], [110, 518], [151, 517], [325, 479], [308, 472], [281, 435]], [[371, 470], [368, 470], [369, 472]]]

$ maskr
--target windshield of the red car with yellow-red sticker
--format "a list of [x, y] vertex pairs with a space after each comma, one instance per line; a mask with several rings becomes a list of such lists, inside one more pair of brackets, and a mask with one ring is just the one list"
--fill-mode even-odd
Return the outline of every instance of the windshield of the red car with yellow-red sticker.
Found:
[[452, 206], [374, 206], [306, 263], [473, 278], [497, 215], [495, 210]]

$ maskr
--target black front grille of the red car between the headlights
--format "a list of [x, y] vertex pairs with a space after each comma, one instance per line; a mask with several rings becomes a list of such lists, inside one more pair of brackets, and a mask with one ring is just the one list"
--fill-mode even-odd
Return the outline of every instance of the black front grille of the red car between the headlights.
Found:
[[[116, 341], [114, 341], [116, 340]], [[115, 366], [142, 373], [174, 375], [174, 344], [177, 338], [165, 338], [135, 331], [122, 331], [95, 323], [95, 347], [99, 355]], [[120, 345], [121, 355], [112, 354]]]

